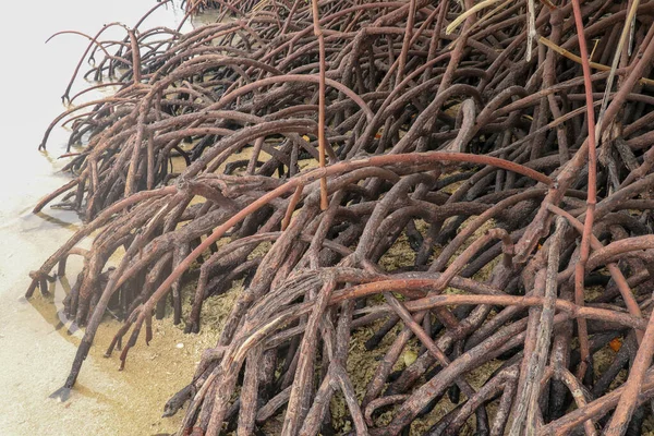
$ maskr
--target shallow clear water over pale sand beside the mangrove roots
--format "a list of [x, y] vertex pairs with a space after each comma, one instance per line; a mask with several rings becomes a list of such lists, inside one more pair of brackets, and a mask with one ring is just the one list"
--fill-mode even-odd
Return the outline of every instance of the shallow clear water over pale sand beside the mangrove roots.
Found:
[[[76, 277], [52, 283], [53, 298], [23, 294], [27, 274], [38, 269], [80, 226], [75, 214], [46, 208], [34, 215], [40, 197], [69, 180], [58, 173], [66, 159], [68, 131], [57, 128], [47, 152], [37, 150], [50, 123], [66, 108], [61, 104], [87, 40], [55, 32], [75, 29], [94, 35], [105, 23], [134, 25], [155, 0], [5, 1], [0, 9], [3, 43], [0, 61], [0, 434], [1, 435], [154, 435], [174, 431], [180, 416], [161, 419], [161, 408], [190, 379], [201, 351], [214, 338], [191, 339], [168, 320], [155, 327], [153, 347], [138, 346], [125, 371], [118, 358], [101, 354], [117, 322], [104, 325], [84, 364], [71, 399], [48, 396], [62, 386], [81, 331], [60, 316], [61, 300]], [[162, 7], [143, 25], [175, 27], [183, 12]], [[186, 25], [186, 28], [192, 23]], [[112, 35], [122, 38], [124, 31]], [[85, 71], [83, 68], [82, 71]], [[78, 80], [76, 90], [87, 85]], [[88, 96], [94, 98], [96, 96]], [[70, 283], [69, 283], [70, 281]], [[157, 331], [158, 330], [158, 331]]]

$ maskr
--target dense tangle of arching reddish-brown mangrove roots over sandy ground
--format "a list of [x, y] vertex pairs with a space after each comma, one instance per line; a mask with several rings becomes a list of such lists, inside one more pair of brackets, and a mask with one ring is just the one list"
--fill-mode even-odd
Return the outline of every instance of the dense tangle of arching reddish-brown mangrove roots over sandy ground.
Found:
[[85, 219], [27, 291], [84, 257], [63, 389], [108, 308], [129, 365], [170, 305], [225, 326], [167, 404], [181, 435], [651, 427], [654, 2], [496, 3], [193, 1], [235, 17], [100, 32], [86, 76], [120, 89], [53, 122], [84, 147], [35, 208]]

